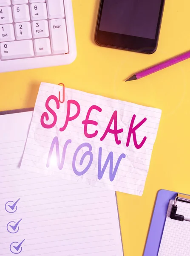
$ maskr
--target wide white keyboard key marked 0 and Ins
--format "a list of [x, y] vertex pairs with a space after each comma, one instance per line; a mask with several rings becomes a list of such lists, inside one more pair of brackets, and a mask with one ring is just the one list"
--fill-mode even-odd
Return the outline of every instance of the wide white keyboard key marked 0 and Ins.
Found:
[[33, 57], [33, 43], [31, 40], [0, 43], [0, 56], [2, 60]]

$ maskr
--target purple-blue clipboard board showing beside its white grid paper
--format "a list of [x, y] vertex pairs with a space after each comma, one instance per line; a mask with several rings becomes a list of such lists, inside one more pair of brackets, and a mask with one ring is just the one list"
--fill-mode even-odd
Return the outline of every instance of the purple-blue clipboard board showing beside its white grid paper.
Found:
[[[167, 216], [168, 204], [170, 200], [175, 201], [178, 195], [181, 195], [181, 197], [183, 197], [184, 194], [179, 194], [177, 192], [164, 190], [164, 189], [159, 190], [156, 198], [154, 212], [153, 212], [143, 256], [158, 256], [159, 247], [162, 240], [162, 234], [163, 234], [164, 225], [165, 225], [165, 220]], [[189, 196], [184, 195], [184, 197], [188, 198]], [[179, 221], [179, 220], [176, 220], [176, 221]]]

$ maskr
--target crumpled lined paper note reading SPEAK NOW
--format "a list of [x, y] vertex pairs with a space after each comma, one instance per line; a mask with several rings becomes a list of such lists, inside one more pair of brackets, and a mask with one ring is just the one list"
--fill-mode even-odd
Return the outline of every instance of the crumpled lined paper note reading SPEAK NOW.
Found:
[[[104, 189], [142, 195], [161, 110], [69, 88], [65, 88], [65, 102], [59, 104], [57, 99], [56, 105], [54, 99], [58, 97], [59, 91], [62, 91], [62, 87], [55, 84], [42, 83], [40, 85], [21, 168], [74, 182], [81, 181]], [[51, 95], [54, 99], [47, 103]], [[77, 101], [80, 110], [78, 109], [79, 115], [76, 119], [64, 125], [69, 100]], [[48, 105], [48, 111], [45, 105]], [[90, 124], [85, 128], [84, 120], [92, 105], [96, 105], [99, 111], [92, 110], [89, 120], [94, 120], [97, 125]], [[117, 127], [113, 121], [110, 132], [104, 136], [111, 116], [113, 113], [116, 114], [115, 111], [117, 111], [117, 117], [115, 116], [114, 120], [117, 119]], [[44, 112], [48, 115], [48, 119], [42, 117]], [[70, 120], [76, 114], [77, 106], [71, 104], [70, 114], [68, 112]], [[130, 136], [129, 146], [126, 146], [130, 123], [134, 115], [136, 116], [132, 127], [146, 118], [146, 121], [135, 131], [138, 145], [147, 137], [144, 145], [139, 149], [134, 145], [134, 134]], [[56, 124], [53, 128], [44, 128], [40, 123], [41, 119], [45, 125], [53, 122]], [[66, 127], [65, 130], [60, 131], [63, 126]], [[117, 138], [111, 133], [114, 126], [119, 130], [120, 144], [116, 143]], [[87, 138], [84, 130], [88, 134], [96, 133], [96, 136]], [[50, 154], [52, 143], [54, 147]]]

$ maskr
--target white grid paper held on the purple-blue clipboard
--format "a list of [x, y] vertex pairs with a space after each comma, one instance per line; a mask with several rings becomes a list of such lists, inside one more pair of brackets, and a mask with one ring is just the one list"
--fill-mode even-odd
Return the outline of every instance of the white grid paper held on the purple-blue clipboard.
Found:
[[[170, 218], [173, 202], [170, 200], [158, 256], [190, 256], [190, 221]], [[177, 214], [190, 218], [190, 204], [177, 201], [177, 206]]]

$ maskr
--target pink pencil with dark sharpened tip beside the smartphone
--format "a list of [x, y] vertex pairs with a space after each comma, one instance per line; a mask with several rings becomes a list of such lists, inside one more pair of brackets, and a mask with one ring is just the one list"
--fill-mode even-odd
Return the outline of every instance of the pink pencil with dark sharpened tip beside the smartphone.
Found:
[[178, 63], [180, 61], [184, 61], [184, 60], [186, 60], [188, 58], [190, 58], [190, 51], [189, 52], [185, 52], [185, 53], [183, 53], [183, 54], [181, 54], [179, 56], [176, 56], [174, 58], [171, 58], [171, 59], [169, 59], [167, 61], [164, 61], [164, 62], [162, 62], [160, 64], [157, 64], [157, 65], [155, 65], [153, 67], [150, 67], [150, 68], [148, 68], [146, 70], [142, 70], [139, 73], [136, 73], [135, 75], [131, 76], [129, 79], [125, 80], [125, 82], [126, 81], [132, 81], [132, 80], [140, 79], [140, 78], [142, 78], [144, 76], [148, 76], [148, 75], [150, 75], [152, 73], [155, 73], [155, 72], [157, 72], [159, 70], [162, 70], [162, 69], [164, 69], [166, 67], [170, 67], [170, 66], [172, 66], [172, 65], [174, 65], [174, 64], [176, 64], [176, 63]]

